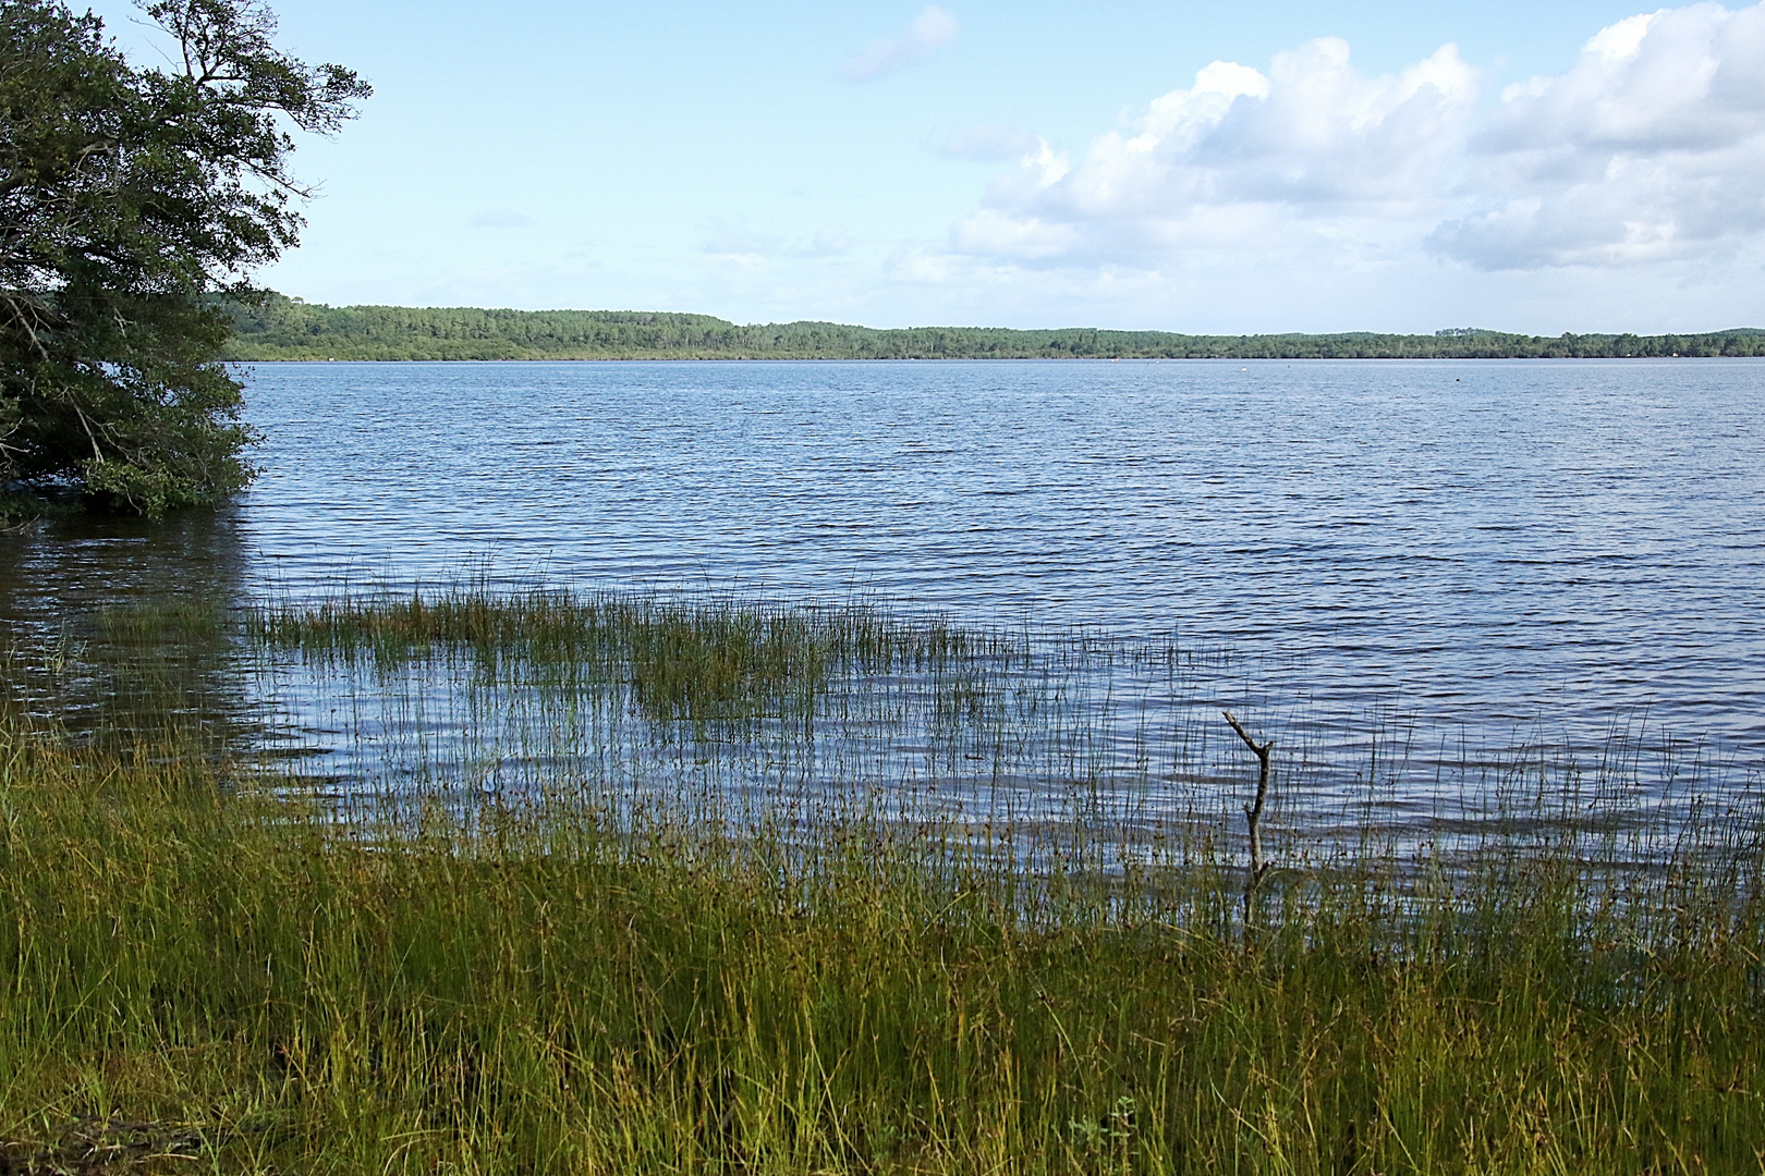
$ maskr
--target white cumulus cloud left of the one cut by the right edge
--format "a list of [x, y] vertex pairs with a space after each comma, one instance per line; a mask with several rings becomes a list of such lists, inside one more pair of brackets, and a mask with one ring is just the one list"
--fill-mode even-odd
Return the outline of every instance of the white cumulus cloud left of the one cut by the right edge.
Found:
[[1077, 164], [1040, 143], [953, 238], [965, 252], [1121, 261], [1340, 236], [1350, 222], [1389, 233], [1440, 206], [1476, 90], [1453, 46], [1387, 78], [1359, 74], [1334, 37], [1267, 74], [1214, 62]]

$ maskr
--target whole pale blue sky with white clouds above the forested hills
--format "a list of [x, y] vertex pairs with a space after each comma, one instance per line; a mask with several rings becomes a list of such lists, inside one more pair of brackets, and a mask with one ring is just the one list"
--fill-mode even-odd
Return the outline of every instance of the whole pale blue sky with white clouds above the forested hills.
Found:
[[[92, 5], [134, 60], [164, 44]], [[1765, 4], [281, 0], [334, 305], [1765, 326]]]

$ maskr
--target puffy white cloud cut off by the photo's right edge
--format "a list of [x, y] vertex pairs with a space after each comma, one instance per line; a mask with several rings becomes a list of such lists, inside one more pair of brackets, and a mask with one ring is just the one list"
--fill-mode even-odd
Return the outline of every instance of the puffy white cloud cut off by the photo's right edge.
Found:
[[1509, 86], [1435, 249], [1486, 268], [1686, 257], [1765, 231], [1765, 5], [1663, 9]]

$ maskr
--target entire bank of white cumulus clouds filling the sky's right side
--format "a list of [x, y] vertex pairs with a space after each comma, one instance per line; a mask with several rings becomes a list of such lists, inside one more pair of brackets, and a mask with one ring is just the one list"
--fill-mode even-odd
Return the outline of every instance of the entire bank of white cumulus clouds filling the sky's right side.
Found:
[[1025, 150], [951, 250], [1500, 272], [1694, 259], [1761, 233], [1765, 4], [1698, 4], [1611, 25], [1500, 95], [1451, 44], [1377, 78], [1334, 37], [1266, 72], [1214, 62], [1078, 159]]

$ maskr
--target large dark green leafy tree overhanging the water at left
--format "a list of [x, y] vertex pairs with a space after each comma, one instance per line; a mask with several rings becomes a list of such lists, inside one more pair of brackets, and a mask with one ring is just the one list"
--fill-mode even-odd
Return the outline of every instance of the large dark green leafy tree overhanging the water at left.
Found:
[[275, 49], [258, 0], [138, 0], [182, 51], [134, 69], [90, 12], [0, 0], [0, 481], [159, 515], [252, 474], [221, 296], [298, 243], [289, 129], [371, 90]]

